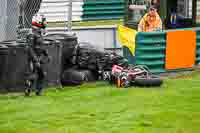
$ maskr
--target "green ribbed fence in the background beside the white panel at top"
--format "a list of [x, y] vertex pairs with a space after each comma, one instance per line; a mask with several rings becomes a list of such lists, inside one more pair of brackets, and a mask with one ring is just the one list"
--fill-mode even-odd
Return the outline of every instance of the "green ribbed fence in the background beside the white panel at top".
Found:
[[85, 0], [83, 20], [120, 19], [124, 16], [124, 0]]

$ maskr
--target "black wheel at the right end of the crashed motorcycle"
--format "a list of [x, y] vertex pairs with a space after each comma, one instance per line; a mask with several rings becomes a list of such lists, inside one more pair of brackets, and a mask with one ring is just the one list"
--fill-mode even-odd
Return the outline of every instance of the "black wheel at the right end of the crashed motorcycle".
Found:
[[159, 76], [149, 76], [148, 78], [145, 76], [139, 76], [135, 78], [134, 84], [136, 86], [161, 86], [163, 83], [163, 79]]

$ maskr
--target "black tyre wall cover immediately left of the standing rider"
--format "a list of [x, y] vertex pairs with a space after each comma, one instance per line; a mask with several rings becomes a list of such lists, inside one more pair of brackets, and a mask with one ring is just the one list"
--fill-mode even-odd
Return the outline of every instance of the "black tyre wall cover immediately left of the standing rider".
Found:
[[25, 47], [9, 46], [7, 76], [5, 86], [7, 91], [23, 91], [28, 68], [28, 53]]

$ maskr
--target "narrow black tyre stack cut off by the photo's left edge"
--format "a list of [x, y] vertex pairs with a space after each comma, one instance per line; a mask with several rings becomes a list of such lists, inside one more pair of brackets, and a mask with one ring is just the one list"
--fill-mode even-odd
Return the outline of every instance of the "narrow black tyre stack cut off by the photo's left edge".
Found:
[[5, 83], [7, 81], [8, 47], [0, 44], [0, 92], [6, 92]]

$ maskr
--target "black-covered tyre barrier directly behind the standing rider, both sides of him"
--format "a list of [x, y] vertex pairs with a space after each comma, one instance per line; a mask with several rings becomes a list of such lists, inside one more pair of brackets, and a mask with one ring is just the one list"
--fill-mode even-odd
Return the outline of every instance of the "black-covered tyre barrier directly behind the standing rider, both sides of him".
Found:
[[[4, 46], [4, 47], [2, 47]], [[48, 51], [51, 60], [44, 64], [46, 85], [61, 85], [61, 56], [62, 45], [59, 41], [44, 40], [44, 49]], [[19, 45], [15, 41], [0, 43], [0, 91], [24, 91], [25, 80], [29, 73], [28, 47]]]

